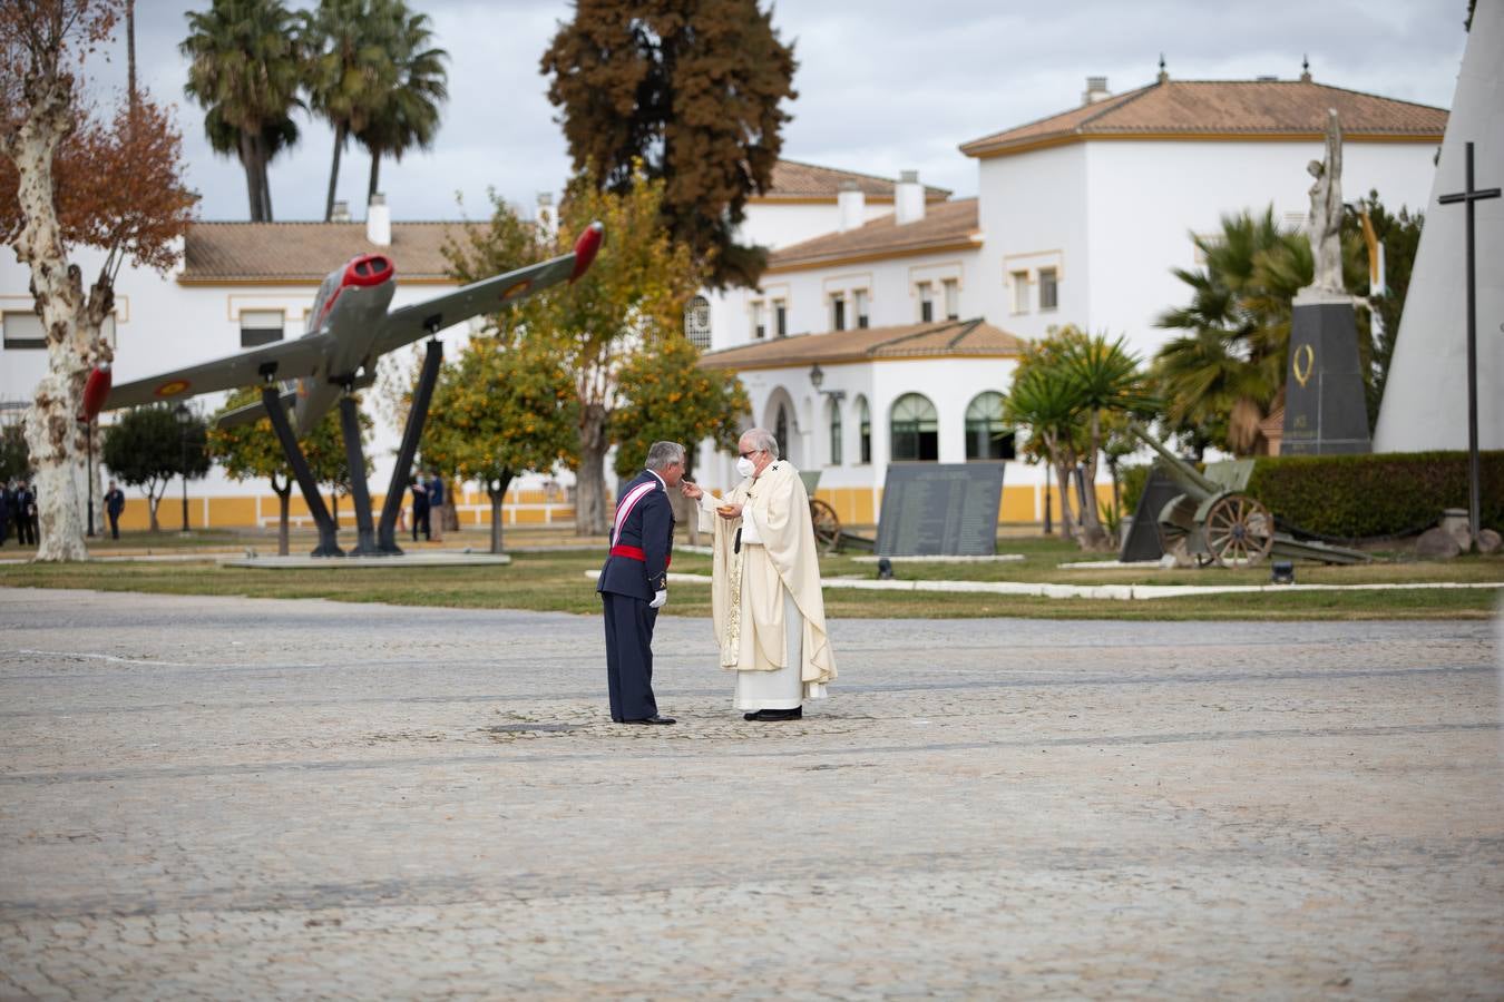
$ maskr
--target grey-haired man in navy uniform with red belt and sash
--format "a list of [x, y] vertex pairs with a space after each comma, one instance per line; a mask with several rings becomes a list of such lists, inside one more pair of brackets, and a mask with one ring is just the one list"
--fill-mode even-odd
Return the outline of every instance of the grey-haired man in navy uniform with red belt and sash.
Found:
[[611, 720], [618, 724], [672, 724], [653, 699], [653, 623], [668, 601], [674, 511], [668, 491], [684, 478], [684, 446], [654, 442], [647, 469], [621, 488], [611, 526], [611, 553], [600, 568], [606, 616], [606, 684]]

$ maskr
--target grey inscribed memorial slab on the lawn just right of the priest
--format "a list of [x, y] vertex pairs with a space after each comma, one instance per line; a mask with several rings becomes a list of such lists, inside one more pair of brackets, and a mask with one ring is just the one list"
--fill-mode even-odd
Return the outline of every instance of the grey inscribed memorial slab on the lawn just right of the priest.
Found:
[[877, 553], [985, 557], [997, 553], [1002, 463], [889, 463]]

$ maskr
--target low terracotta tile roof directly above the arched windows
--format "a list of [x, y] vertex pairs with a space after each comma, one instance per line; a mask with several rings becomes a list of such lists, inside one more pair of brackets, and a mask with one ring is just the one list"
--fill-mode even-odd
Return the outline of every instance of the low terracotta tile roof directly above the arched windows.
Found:
[[781, 368], [814, 362], [868, 362], [898, 358], [1018, 355], [1023, 341], [982, 320], [942, 320], [898, 327], [802, 333], [707, 352], [699, 368]]

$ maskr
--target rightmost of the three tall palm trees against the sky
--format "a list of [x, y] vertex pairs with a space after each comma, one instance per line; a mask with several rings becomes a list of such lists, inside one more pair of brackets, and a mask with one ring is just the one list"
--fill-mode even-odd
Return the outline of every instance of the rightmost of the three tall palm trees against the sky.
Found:
[[367, 203], [381, 185], [381, 158], [390, 155], [400, 161], [415, 146], [429, 149], [439, 131], [439, 105], [450, 96], [444, 69], [450, 56], [442, 48], [430, 48], [429, 15], [409, 12], [402, 0], [388, 2], [397, 75], [393, 87], [381, 95], [365, 128], [355, 132], [355, 140], [371, 155]]

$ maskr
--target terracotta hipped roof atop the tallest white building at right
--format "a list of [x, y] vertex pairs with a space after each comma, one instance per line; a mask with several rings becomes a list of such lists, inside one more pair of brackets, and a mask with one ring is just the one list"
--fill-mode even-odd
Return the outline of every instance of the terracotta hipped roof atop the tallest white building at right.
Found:
[[1439, 141], [1447, 129], [1444, 108], [1308, 80], [1167, 80], [972, 140], [961, 152], [1000, 156], [1092, 137], [1316, 137], [1327, 128], [1328, 108], [1337, 108], [1342, 131], [1352, 138], [1426, 137]]

